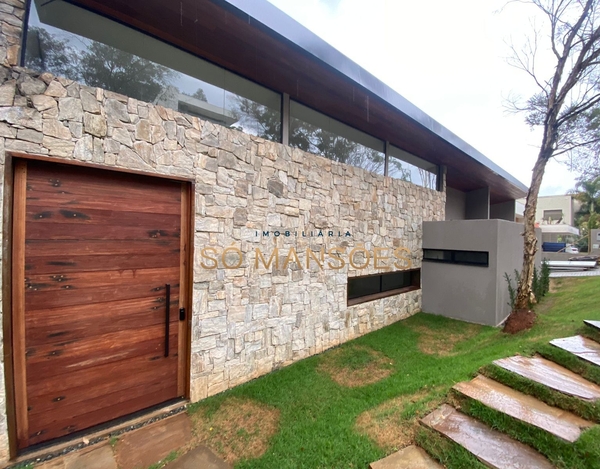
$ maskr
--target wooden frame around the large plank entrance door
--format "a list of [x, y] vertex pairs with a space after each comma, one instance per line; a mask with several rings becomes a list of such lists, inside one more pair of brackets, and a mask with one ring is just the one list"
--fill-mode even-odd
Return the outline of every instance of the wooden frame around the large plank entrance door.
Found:
[[[2, 222], [2, 329], [4, 348], [4, 378], [6, 389], [6, 415], [8, 423], [10, 458], [19, 455], [17, 440], [19, 432], [27, 431], [27, 393], [24, 349], [25, 343], [20, 340], [24, 337], [24, 285], [13, 282], [15, 272], [14, 263], [14, 238], [24, 236], [25, 221], [22, 226], [17, 226], [16, 210], [24, 210], [23, 196], [26, 190], [27, 161], [44, 161], [70, 166], [82, 166], [91, 169], [113, 171], [118, 173], [135, 174], [146, 177], [171, 180], [181, 183], [181, 254], [180, 254], [180, 295], [179, 308], [185, 308], [185, 321], [179, 324], [179, 350], [177, 365], [177, 393], [188, 399], [190, 397], [190, 367], [191, 367], [191, 324], [192, 324], [192, 294], [193, 294], [193, 259], [194, 259], [194, 218], [195, 213], [195, 180], [192, 178], [149, 173], [144, 171], [129, 170], [99, 164], [88, 164], [81, 161], [66, 160], [44, 155], [26, 154], [20, 152], [6, 152], [4, 164], [4, 200]], [[25, 179], [24, 179], [25, 178]], [[16, 191], [21, 193], [21, 200]], [[21, 213], [23, 215], [24, 213]], [[24, 253], [23, 253], [24, 254]], [[20, 256], [19, 253], [16, 255]], [[24, 258], [23, 258], [24, 260]], [[13, 296], [15, 298], [13, 298]], [[19, 302], [19, 299], [21, 302]], [[21, 353], [15, 354], [14, 350]], [[16, 363], [15, 363], [16, 361]], [[90, 429], [93, 430], [94, 427]], [[68, 436], [67, 436], [68, 438]], [[47, 444], [47, 443], [44, 443]]]

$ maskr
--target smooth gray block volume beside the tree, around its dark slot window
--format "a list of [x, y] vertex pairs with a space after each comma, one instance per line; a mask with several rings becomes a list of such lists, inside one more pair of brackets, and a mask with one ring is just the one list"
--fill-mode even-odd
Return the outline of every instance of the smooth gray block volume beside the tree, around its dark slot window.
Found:
[[423, 262], [423, 311], [500, 324], [510, 313], [504, 272], [522, 265], [522, 228], [504, 220], [424, 222], [424, 249], [487, 251], [489, 267]]

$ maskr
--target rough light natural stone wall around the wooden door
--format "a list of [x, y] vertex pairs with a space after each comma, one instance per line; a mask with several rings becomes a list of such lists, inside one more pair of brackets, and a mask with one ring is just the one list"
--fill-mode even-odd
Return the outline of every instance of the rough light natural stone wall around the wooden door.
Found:
[[193, 401], [419, 310], [420, 290], [348, 307], [348, 277], [381, 272], [377, 254], [406, 267], [382, 259], [398, 248], [420, 267], [421, 224], [444, 219], [445, 191], [16, 67], [22, 18], [22, 1], [0, 0], [2, 173], [5, 152], [17, 151], [195, 183]]

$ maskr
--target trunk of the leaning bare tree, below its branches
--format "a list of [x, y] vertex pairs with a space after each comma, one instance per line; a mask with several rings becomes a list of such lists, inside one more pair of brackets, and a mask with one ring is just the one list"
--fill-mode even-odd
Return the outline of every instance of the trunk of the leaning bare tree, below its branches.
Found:
[[[533, 167], [531, 175], [531, 186], [527, 192], [527, 200], [525, 202], [525, 230], [523, 232], [523, 270], [521, 271], [521, 279], [517, 289], [517, 297], [515, 299], [514, 310], [529, 309], [529, 305], [535, 303], [535, 296], [532, 291], [533, 269], [535, 266], [535, 253], [537, 252], [537, 238], [535, 236], [535, 212], [537, 209], [538, 193], [542, 185], [544, 170], [548, 158], [545, 157], [547, 151], [541, 149], [538, 159]], [[551, 154], [551, 152], [550, 152]]]

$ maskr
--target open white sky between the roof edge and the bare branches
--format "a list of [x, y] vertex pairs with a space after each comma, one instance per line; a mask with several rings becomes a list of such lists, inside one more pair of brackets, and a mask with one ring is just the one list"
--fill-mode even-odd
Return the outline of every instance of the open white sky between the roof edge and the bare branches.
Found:
[[[529, 186], [540, 133], [507, 113], [504, 99], [535, 92], [506, 62], [507, 43], [524, 43], [535, 9], [502, 9], [503, 0], [269, 1]], [[543, 28], [542, 17], [533, 21]], [[566, 193], [576, 176], [551, 161], [540, 195]]]

